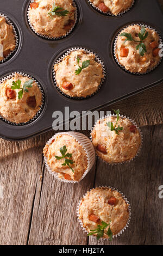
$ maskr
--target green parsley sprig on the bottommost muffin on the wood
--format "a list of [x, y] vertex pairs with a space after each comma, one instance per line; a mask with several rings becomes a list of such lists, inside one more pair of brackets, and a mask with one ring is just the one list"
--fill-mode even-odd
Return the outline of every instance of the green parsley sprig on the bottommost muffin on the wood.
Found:
[[97, 240], [99, 240], [104, 235], [104, 229], [109, 226], [109, 228], [106, 232], [106, 235], [108, 235], [109, 240], [111, 241], [112, 240], [112, 231], [110, 229], [110, 223], [111, 223], [111, 220], [110, 220], [109, 224], [102, 221], [101, 225], [97, 225], [96, 229], [91, 229], [91, 232], [88, 234], [88, 236], [93, 235], [93, 234], [97, 234]]

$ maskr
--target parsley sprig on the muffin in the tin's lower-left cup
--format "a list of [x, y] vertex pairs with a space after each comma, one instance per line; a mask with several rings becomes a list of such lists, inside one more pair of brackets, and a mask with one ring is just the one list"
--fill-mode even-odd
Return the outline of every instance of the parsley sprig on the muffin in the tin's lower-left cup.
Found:
[[11, 86], [11, 89], [12, 90], [15, 90], [15, 89], [21, 89], [19, 92], [18, 92], [18, 99], [21, 100], [22, 99], [22, 96], [23, 96], [23, 93], [24, 92], [29, 92], [27, 88], [32, 88], [32, 84], [33, 84], [33, 80], [30, 79], [28, 81], [26, 81], [24, 84], [23, 84], [23, 88], [21, 88], [21, 80], [17, 80], [17, 81], [13, 81], [12, 82], [12, 86]]

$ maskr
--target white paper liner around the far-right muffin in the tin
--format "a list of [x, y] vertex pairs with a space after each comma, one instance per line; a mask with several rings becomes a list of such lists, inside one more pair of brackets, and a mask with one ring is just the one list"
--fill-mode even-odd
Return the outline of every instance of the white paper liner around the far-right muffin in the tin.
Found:
[[[155, 31], [155, 29], [152, 28], [152, 27], [149, 27], [149, 26], [147, 26], [147, 25], [145, 25], [145, 24], [138, 24], [138, 23], [137, 23], [137, 24], [131, 24], [131, 25], [128, 25], [128, 26], [122, 28], [121, 31], [117, 34], [117, 36], [116, 36], [116, 38], [115, 38], [115, 41], [114, 41], [114, 57], [115, 57], [115, 60], [116, 60], [117, 64], [118, 64], [124, 71], [128, 72], [129, 74], [134, 74], [134, 75], [146, 75], [146, 74], [148, 74], [149, 72], [151, 72], [152, 70], [154, 70], [154, 69], [161, 63], [162, 57], [160, 57], [159, 62], [158, 62], [155, 66], [153, 66], [152, 69], [149, 69], [149, 70], [147, 70], [147, 71], [144, 72], [144, 73], [140, 73], [140, 72], [131, 72], [131, 71], [127, 70], [127, 69], [119, 62], [119, 60], [118, 60], [118, 58], [117, 58], [117, 56], [116, 56], [116, 48], [117, 48], [118, 36], [122, 33], [122, 31], [123, 31], [124, 29], [128, 28], [129, 26], [134, 26], [134, 25], [138, 25], [138, 26], [140, 26], [140, 27], [145, 26], [145, 28], [149, 28], [149, 29], [152, 29], [153, 31]], [[157, 31], [155, 31], [155, 32], [158, 33]], [[158, 33], [158, 35], [159, 35], [159, 39], [160, 39], [159, 44], [162, 44], [161, 36], [160, 36], [159, 33]], [[161, 49], [160, 49], [160, 50], [161, 50]]]

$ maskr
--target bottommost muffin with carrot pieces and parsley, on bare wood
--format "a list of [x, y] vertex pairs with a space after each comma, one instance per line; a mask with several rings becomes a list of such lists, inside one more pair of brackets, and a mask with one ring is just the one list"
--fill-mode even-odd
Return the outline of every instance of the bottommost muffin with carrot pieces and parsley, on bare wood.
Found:
[[[130, 219], [129, 204], [116, 190], [96, 187], [79, 202], [78, 217], [88, 235], [111, 240], [126, 229]], [[103, 230], [100, 233], [96, 232], [99, 228]]]

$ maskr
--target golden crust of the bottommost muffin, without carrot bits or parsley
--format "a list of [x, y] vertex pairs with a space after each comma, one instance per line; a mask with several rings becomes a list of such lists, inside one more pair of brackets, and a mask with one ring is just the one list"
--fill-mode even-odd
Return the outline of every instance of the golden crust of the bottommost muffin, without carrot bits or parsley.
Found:
[[[115, 205], [108, 203], [111, 197], [116, 198]], [[97, 223], [90, 220], [92, 214], [100, 218]], [[93, 188], [82, 198], [79, 206], [79, 219], [88, 232], [96, 229], [97, 225], [101, 224], [101, 221], [109, 224], [111, 220], [110, 229], [112, 234], [116, 235], [126, 227], [129, 219], [129, 206], [117, 191], [105, 187]], [[104, 230], [103, 238], [108, 238], [108, 235], [106, 235], [107, 230], [108, 228]]]

